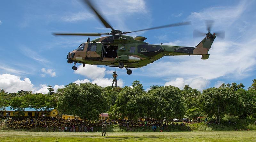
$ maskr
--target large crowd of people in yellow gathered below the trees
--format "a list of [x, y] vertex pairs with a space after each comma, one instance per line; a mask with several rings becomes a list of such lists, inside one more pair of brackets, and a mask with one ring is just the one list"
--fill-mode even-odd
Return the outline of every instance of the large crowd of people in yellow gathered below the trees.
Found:
[[[119, 125], [123, 127], [148, 127], [152, 128], [153, 131], [156, 131], [156, 128], [161, 126], [161, 121], [159, 119], [147, 119], [147, 120], [138, 120], [138, 121], [129, 121], [129, 120], [110, 120], [104, 119], [103, 122], [107, 125]], [[5, 124], [8, 128], [12, 129], [31, 129], [34, 127], [45, 128], [46, 131], [58, 131], [58, 132], [93, 132], [94, 127], [100, 128], [102, 126], [102, 121], [95, 120], [90, 123], [84, 123], [83, 120], [77, 119], [60, 119], [60, 117], [38, 117], [35, 118], [23, 118], [20, 120], [13, 119], [11, 117], [6, 118]], [[164, 122], [163, 127], [167, 125], [180, 125], [185, 126], [186, 123], [168, 123]]]

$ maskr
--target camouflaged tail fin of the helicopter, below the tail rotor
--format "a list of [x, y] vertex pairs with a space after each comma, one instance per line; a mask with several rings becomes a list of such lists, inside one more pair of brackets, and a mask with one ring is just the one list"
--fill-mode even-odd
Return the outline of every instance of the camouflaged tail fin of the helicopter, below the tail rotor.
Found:
[[208, 59], [210, 56], [210, 54], [208, 54], [208, 51], [210, 50], [215, 37], [215, 35], [205, 37], [193, 50], [193, 54], [202, 55], [201, 59]]

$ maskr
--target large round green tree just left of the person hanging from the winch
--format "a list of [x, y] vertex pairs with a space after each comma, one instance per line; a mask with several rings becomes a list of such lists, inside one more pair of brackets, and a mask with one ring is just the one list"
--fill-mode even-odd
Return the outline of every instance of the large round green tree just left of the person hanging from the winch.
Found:
[[60, 97], [58, 108], [63, 113], [77, 115], [90, 122], [98, 119], [99, 114], [106, 109], [106, 98], [101, 93], [101, 87], [92, 83], [70, 83], [64, 88], [63, 96]]

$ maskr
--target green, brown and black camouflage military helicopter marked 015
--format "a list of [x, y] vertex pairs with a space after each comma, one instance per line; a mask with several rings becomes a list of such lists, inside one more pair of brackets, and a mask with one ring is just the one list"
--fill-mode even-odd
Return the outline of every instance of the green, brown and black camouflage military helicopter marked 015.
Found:
[[125, 34], [158, 28], [191, 25], [191, 22], [180, 22], [136, 31], [122, 32], [112, 28], [89, 0], [84, 0], [84, 2], [91, 8], [94, 14], [97, 15], [106, 28], [111, 28], [111, 32], [53, 33], [53, 35], [80, 36], [107, 35], [92, 41], [90, 41], [90, 37], [88, 37], [86, 42], [81, 43], [76, 50], [68, 53], [67, 62], [70, 64], [74, 63], [72, 67], [73, 70], [77, 70], [76, 63], [83, 64], [83, 67], [85, 67], [85, 64], [106, 65], [108, 67], [125, 68], [126, 73], [131, 75], [132, 70], [128, 68], [144, 67], [164, 56], [201, 55], [201, 59], [208, 59], [210, 56], [208, 51], [211, 49], [212, 43], [216, 38], [216, 34], [210, 32], [212, 21], [208, 21], [208, 32], [206, 34], [203, 33], [206, 37], [195, 47], [149, 44], [145, 42], [146, 37], [132, 37]]

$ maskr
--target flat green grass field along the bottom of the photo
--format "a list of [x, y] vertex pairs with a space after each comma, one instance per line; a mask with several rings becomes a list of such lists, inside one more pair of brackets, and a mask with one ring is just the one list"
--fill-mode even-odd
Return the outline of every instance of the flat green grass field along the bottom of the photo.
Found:
[[256, 141], [256, 131], [59, 133], [0, 131], [0, 141]]

